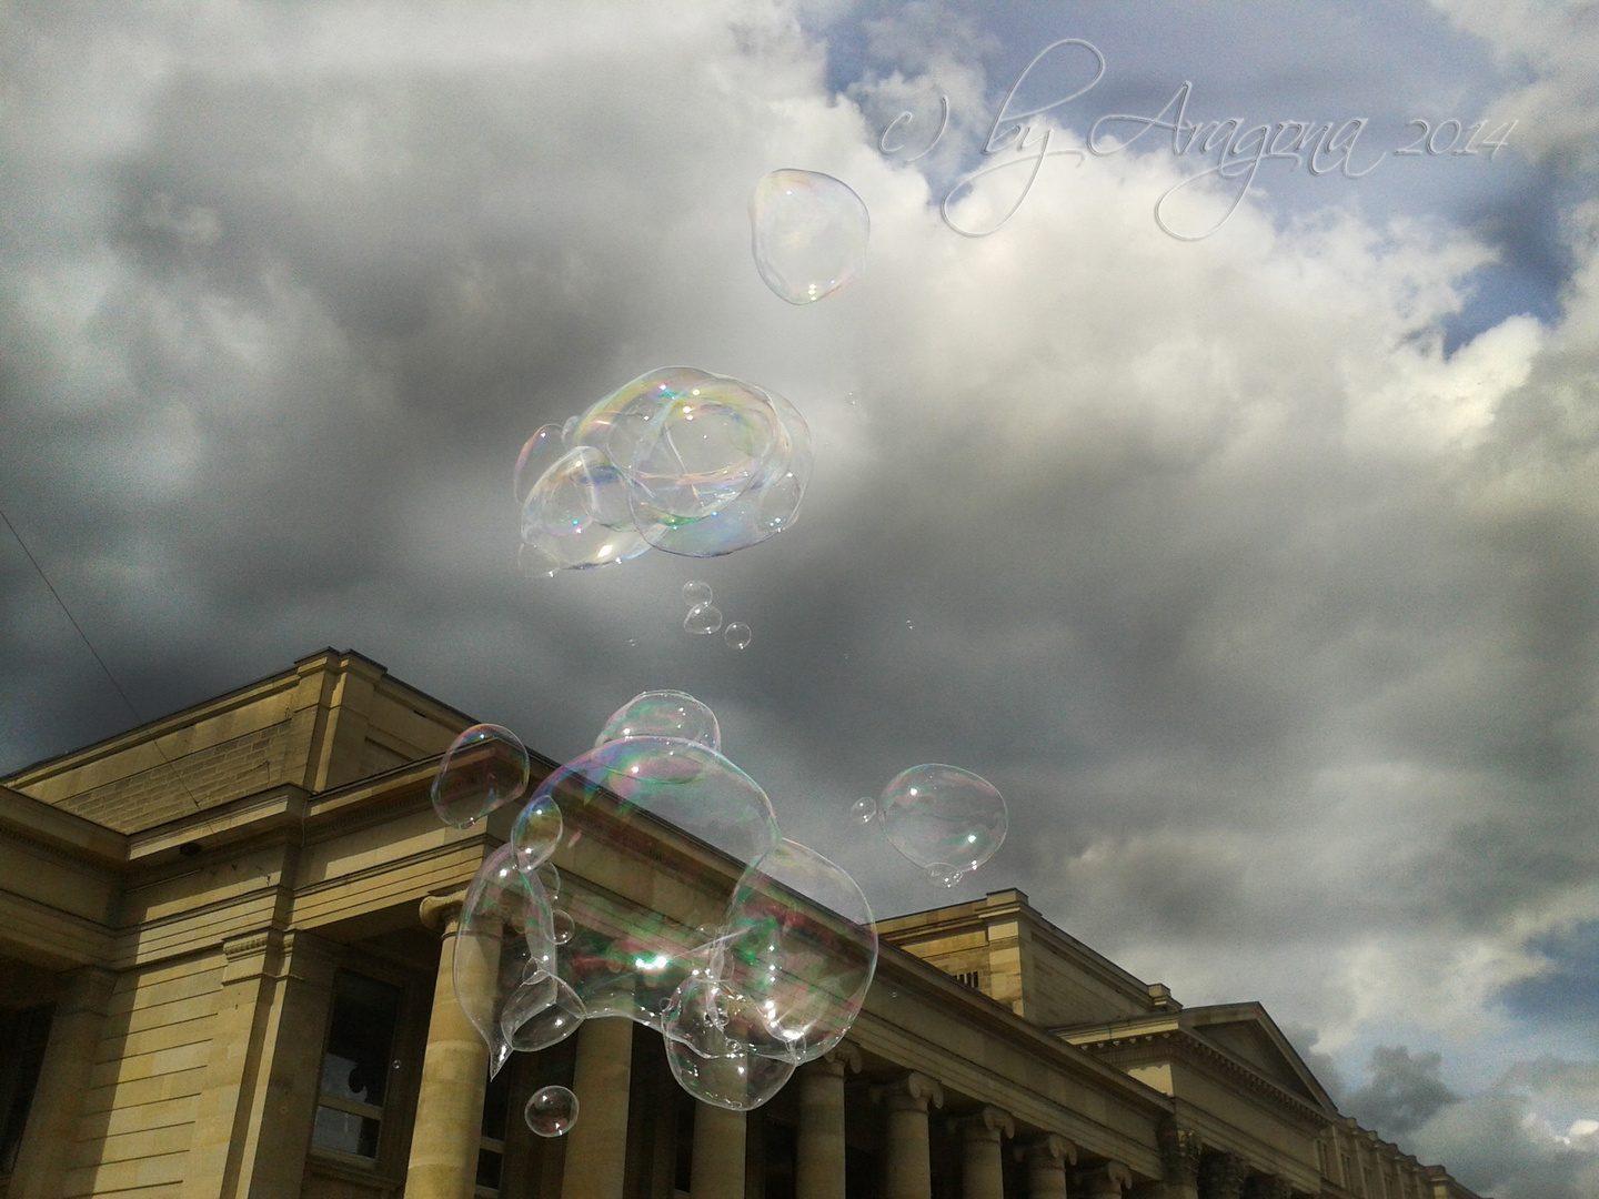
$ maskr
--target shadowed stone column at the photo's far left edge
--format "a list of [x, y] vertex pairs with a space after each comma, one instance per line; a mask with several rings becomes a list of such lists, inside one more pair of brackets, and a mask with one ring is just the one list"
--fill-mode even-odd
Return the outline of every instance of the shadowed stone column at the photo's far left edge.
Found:
[[11, 1199], [54, 1199], [67, 1172], [67, 1151], [90, 1085], [94, 1049], [106, 1023], [106, 1001], [117, 975], [85, 966], [67, 978], [50, 1022], [45, 1060], [11, 1173]]

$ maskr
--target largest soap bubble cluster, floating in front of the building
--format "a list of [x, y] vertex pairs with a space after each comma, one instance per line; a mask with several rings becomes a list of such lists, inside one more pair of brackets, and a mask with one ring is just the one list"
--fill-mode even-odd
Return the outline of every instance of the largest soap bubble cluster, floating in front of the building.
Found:
[[[876, 970], [871, 910], [847, 873], [784, 839], [766, 793], [721, 755], [710, 708], [644, 692], [593, 750], [516, 793], [529, 775], [515, 734], [475, 726], [433, 779], [454, 825], [523, 803], [456, 935], [456, 998], [491, 1073], [590, 1017], [628, 1017], [662, 1033], [684, 1090], [748, 1111], [843, 1039]], [[555, 854], [593, 889], [563, 889]], [[672, 916], [652, 892], [662, 876]]]

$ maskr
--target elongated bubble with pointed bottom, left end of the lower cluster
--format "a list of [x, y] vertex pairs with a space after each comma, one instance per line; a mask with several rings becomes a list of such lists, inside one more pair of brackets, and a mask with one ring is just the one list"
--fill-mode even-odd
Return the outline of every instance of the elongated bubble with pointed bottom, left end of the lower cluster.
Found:
[[484, 858], [461, 905], [453, 978], [462, 1014], [489, 1047], [489, 1074], [512, 1052], [512, 1033], [555, 1002], [553, 986], [524, 990], [555, 966], [550, 905], [510, 846]]

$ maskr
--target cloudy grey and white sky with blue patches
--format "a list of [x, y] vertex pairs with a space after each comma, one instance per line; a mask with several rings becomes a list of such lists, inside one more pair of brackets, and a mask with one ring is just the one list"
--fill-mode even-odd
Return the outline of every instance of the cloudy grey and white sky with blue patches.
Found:
[[[1599, 5], [16, 3], [0, 114], [0, 510], [94, 649], [0, 531], [0, 771], [323, 646], [556, 759], [689, 691], [879, 914], [1020, 887], [1599, 1193]], [[819, 304], [779, 168], [870, 211]], [[670, 364], [803, 412], [798, 521], [520, 577], [523, 440]], [[849, 820], [929, 761], [1009, 804], [953, 890]]]

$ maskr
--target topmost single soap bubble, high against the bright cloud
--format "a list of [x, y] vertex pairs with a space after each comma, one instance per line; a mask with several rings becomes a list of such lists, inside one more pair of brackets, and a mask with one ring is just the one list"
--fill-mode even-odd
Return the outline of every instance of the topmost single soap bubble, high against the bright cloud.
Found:
[[860, 273], [871, 217], [846, 184], [817, 171], [772, 171], [750, 195], [750, 249], [766, 286], [814, 304]]

